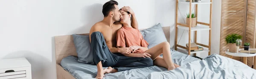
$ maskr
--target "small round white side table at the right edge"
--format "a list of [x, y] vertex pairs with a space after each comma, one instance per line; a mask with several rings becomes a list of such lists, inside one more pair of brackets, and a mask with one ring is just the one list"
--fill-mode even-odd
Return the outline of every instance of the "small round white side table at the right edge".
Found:
[[[239, 49], [241, 50], [241, 49]], [[226, 54], [230, 55], [231, 56], [231, 59], [233, 58], [233, 56], [239, 56], [239, 57], [243, 57], [243, 63], [245, 65], [247, 65], [247, 57], [252, 57], [252, 56], [255, 56], [254, 57], [254, 63], [253, 63], [253, 68], [255, 68], [256, 66], [256, 53], [255, 54], [252, 54], [252, 53], [241, 53], [241, 52], [238, 52], [238, 53], [233, 53], [233, 52], [229, 52], [229, 49], [226, 50], [225, 52]]]

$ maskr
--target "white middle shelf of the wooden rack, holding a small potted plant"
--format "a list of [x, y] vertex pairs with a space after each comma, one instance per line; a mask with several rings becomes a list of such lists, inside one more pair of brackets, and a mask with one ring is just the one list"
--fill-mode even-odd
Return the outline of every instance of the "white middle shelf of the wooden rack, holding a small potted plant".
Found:
[[[189, 27], [185, 27], [185, 26], [181, 26], [181, 25], [178, 25], [178, 28], [184, 29], [184, 30], [189, 30]], [[196, 25], [195, 27], [191, 28], [191, 31], [201, 31], [201, 30], [210, 30], [210, 29], [211, 28], [209, 28], [209, 27], [202, 27], [202, 26]]]

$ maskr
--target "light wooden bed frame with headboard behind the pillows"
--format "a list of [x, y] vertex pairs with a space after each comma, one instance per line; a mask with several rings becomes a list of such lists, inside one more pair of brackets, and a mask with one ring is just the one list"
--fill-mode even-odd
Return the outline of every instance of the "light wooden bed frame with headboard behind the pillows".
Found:
[[[170, 43], [170, 27], [162, 27], [167, 41]], [[143, 30], [143, 29], [140, 29]], [[89, 35], [80, 34], [80, 35]], [[72, 35], [56, 36], [55, 37], [55, 54], [56, 54], [56, 71], [57, 79], [76, 79], [68, 71], [61, 67], [61, 59], [73, 55], [77, 56], [76, 48], [73, 42]]]

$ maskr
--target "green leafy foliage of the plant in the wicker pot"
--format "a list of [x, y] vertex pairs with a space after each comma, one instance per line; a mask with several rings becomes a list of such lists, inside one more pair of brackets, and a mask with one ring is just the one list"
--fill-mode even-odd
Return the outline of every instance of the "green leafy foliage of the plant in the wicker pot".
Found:
[[236, 43], [237, 39], [242, 39], [242, 36], [239, 34], [229, 34], [225, 38], [226, 43]]

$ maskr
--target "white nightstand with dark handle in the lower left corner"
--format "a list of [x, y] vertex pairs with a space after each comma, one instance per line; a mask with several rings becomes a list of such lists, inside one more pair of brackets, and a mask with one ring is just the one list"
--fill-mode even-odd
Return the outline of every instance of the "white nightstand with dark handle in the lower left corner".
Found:
[[26, 58], [0, 59], [0, 79], [32, 79]]

